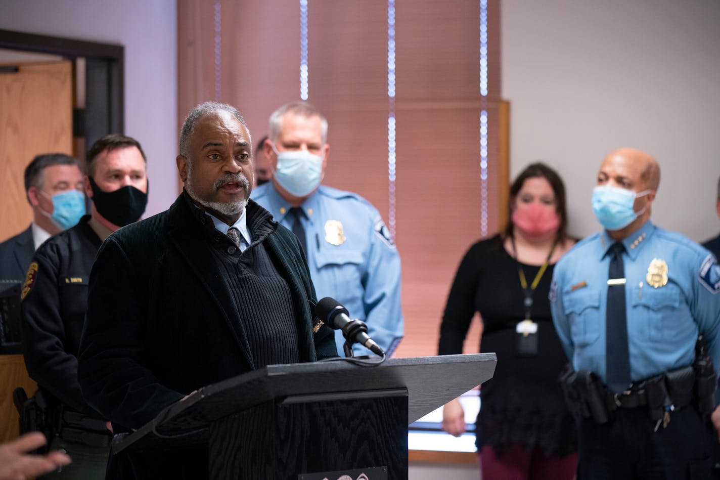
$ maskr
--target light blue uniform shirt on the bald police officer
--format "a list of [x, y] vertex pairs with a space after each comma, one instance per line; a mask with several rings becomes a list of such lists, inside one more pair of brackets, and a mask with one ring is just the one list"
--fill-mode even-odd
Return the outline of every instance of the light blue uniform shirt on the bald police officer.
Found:
[[[554, 270], [552, 317], [575, 370], [606, 382], [606, 231], [578, 242]], [[647, 221], [623, 240], [631, 381], [685, 367], [695, 359], [698, 333], [720, 366], [720, 267], [710, 252], [683, 235]], [[652, 264], [652, 265], [651, 265]], [[662, 283], [663, 266], [667, 283]], [[648, 278], [649, 273], [656, 275]]]

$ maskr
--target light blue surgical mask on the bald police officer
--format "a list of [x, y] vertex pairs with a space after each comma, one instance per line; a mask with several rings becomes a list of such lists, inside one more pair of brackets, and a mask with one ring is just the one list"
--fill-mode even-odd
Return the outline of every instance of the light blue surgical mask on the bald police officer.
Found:
[[651, 190], [634, 192], [626, 188], [599, 185], [593, 189], [593, 213], [602, 226], [608, 230], [620, 230], [642, 215], [633, 209], [635, 199], [647, 195]]

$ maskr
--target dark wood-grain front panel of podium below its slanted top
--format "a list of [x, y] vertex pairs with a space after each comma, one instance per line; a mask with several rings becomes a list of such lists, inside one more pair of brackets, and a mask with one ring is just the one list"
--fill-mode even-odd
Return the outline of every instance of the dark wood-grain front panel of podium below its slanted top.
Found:
[[407, 416], [405, 390], [266, 402], [210, 426], [210, 479], [297, 480], [332, 472], [334, 480], [364, 470], [406, 480]]

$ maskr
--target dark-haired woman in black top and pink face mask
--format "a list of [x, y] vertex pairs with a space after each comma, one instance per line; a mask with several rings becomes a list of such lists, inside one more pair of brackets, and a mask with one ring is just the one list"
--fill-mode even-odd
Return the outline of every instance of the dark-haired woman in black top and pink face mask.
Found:
[[[567, 358], [547, 298], [553, 267], [574, 244], [562, 180], [548, 166], [531, 164], [510, 187], [508, 206], [505, 231], [478, 241], [460, 263], [438, 353], [462, 353], [472, 316], [480, 313], [480, 351], [498, 355], [476, 422], [483, 479], [572, 479], [575, 425], [557, 381]], [[459, 436], [464, 426], [455, 399], [444, 408], [443, 430]]]

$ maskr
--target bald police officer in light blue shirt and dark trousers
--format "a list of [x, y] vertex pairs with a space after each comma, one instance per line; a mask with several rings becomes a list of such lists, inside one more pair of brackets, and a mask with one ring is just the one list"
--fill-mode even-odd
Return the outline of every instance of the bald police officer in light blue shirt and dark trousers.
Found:
[[[609, 154], [593, 190], [604, 230], [555, 267], [550, 301], [572, 365], [562, 383], [580, 417], [579, 479], [710, 478], [720, 267], [649, 221], [659, 184], [648, 154]], [[709, 355], [696, 355], [698, 335]]]

